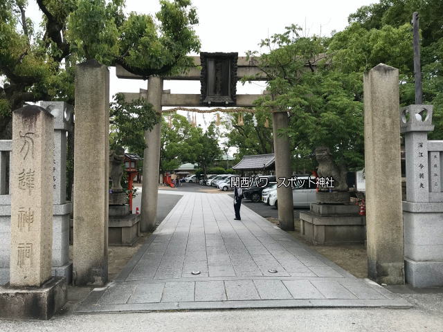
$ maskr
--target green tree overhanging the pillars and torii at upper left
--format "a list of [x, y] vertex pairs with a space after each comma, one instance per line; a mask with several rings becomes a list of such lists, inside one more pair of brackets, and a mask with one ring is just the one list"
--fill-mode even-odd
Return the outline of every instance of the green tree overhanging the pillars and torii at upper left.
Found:
[[192, 66], [199, 50], [190, 0], [160, 0], [152, 15], [124, 15], [124, 0], [36, 0], [42, 26], [26, 15], [28, 1], [0, 2], [0, 138], [11, 137], [11, 111], [24, 102], [74, 104], [74, 66], [95, 58], [132, 73], [163, 75]]

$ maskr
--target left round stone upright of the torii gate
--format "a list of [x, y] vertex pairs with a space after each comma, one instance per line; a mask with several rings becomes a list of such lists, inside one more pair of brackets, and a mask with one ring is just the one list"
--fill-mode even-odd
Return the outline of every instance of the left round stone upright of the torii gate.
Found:
[[[147, 80], [147, 102], [154, 107], [154, 111], [161, 112], [161, 95], [163, 93], [163, 79], [150, 76]], [[155, 229], [157, 215], [157, 198], [159, 196], [159, 167], [161, 122], [151, 130], [145, 131], [145, 151], [143, 153], [143, 185], [141, 192], [141, 223], [142, 232]]]

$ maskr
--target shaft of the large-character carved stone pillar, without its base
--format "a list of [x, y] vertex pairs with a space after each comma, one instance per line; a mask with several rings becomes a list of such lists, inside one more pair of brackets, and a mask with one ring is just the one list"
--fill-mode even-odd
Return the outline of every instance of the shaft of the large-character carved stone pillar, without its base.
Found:
[[12, 115], [10, 285], [51, 278], [53, 116], [37, 106]]

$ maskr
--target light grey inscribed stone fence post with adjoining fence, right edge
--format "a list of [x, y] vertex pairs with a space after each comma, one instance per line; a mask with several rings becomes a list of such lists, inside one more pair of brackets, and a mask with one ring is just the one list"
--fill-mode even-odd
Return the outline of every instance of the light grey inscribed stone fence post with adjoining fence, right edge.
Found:
[[414, 287], [443, 286], [443, 142], [428, 140], [432, 116], [432, 105], [400, 111], [406, 149], [405, 274]]

